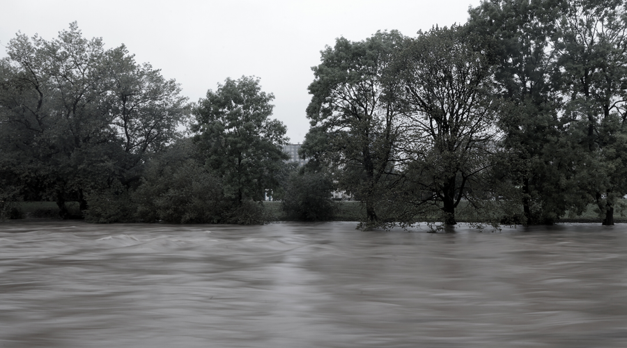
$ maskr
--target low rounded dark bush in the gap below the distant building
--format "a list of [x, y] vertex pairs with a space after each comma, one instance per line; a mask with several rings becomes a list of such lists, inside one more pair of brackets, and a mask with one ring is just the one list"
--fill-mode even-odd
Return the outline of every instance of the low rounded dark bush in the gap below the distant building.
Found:
[[288, 219], [332, 220], [336, 206], [331, 199], [333, 182], [321, 172], [292, 173], [286, 182], [282, 208]]

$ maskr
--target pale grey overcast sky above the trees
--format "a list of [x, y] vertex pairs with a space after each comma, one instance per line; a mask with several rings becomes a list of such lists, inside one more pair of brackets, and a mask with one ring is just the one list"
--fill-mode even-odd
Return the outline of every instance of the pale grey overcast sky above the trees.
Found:
[[274, 118], [292, 143], [309, 129], [305, 109], [311, 67], [335, 38], [360, 41], [378, 30], [413, 36], [431, 26], [462, 24], [480, 0], [135, 1], [1, 0], [0, 56], [17, 31], [56, 38], [77, 21], [85, 38], [125, 44], [138, 63], [176, 79], [192, 102], [227, 77], [261, 78], [274, 93]]

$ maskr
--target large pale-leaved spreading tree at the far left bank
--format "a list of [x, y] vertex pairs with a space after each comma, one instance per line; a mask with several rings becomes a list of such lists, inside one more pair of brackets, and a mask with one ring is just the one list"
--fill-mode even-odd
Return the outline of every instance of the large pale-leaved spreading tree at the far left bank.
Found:
[[77, 24], [54, 40], [18, 34], [0, 61], [3, 175], [24, 193], [87, 208], [88, 191], [139, 184], [144, 157], [187, 116], [173, 80], [138, 65], [123, 45], [104, 49]]

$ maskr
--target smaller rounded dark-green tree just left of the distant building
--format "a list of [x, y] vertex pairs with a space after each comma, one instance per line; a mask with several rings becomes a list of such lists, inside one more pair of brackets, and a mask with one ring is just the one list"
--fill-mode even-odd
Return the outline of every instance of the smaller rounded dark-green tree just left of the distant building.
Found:
[[288, 155], [286, 127], [272, 116], [272, 93], [261, 91], [259, 79], [226, 79], [194, 108], [194, 141], [206, 166], [224, 183], [227, 197], [238, 205], [263, 200], [279, 186], [279, 172]]

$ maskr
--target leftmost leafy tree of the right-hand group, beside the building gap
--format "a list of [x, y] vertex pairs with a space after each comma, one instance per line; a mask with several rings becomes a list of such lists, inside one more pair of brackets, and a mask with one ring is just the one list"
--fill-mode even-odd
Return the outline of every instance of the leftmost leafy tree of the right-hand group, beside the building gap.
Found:
[[312, 68], [311, 129], [303, 155], [336, 168], [339, 188], [364, 203], [366, 227], [389, 219], [380, 216], [378, 205], [394, 187], [398, 112], [395, 84], [385, 84], [383, 71], [402, 40], [398, 31], [379, 31], [360, 42], [339, 38]]

